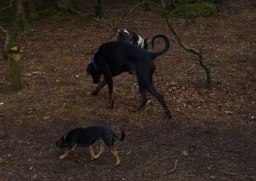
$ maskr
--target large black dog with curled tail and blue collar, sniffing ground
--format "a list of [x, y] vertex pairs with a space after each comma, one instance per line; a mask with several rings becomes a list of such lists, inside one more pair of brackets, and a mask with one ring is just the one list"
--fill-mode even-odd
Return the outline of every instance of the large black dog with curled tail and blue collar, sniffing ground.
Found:
[[109, 42], [100, 46], [98, 52], [92, 57], [92, 62], [87, 67], [87, 74], [92, 75], [93, 83], [100, 82], [100, 76], [104, 75], [104, 80], [97, 85], [92, 95], [97, 95], [100, 89], [108, 83], [109, 108], [113, 108], [113, 80], [112, 77], [120, 75], [122, 72], [136, 74], [140, 87], [141, 103], [134, 108], [133, 112], [140, 110], [147, 103], [147, 91], [152, 94], [163, 106], [167, 117], [172, 118], [171, 112], [166, 105], [164, 98], [154, 87], [153, 74], [156, 65], [153, 61], [159, 55], [164, 54], [170, 47], [170, 42], [166, 36], [158, 34], [152, 38], [152, 47], [157, 38], [163, 38], [165, 47], [160, 52], [147, 52], [142, 48], [134, 48], [131, 44], [123, 42]]

